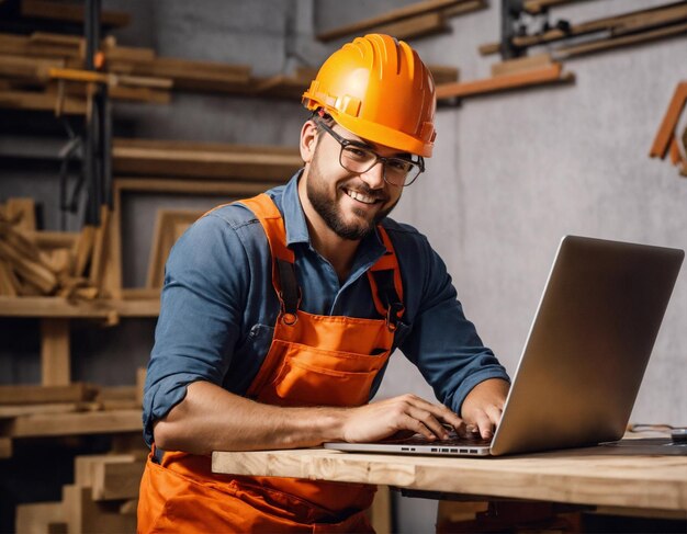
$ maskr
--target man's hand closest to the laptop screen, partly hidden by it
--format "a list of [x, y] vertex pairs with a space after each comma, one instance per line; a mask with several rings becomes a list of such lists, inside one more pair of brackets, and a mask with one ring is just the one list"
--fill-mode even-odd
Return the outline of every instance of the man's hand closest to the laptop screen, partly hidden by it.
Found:
[[506, 380], [491, 378], [472, 388], [461, 408], [468, 432], [478, 433], [485, 440], [492, 439], [494, 429], [500, 422], [509, 387]]

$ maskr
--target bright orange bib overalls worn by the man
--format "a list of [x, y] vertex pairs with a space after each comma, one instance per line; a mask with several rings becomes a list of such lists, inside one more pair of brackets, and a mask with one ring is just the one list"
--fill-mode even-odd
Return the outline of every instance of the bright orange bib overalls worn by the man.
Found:
[[[403, 314], [401, 273], [382, 227], [386, 253], [368, 276], [383, 319], [306, 314], [297, 309], [294, 255], [272, 200], [241, 204], [264, 228], [281, 303], [270, 350], [247, 396], [279, 406], [354, 407], [368, 402]], [[209, 456], [153, 453], [140, 482], [138, 532], [373, 532], [363, 511], [375, 488], [295, 478], [216, 475]]]

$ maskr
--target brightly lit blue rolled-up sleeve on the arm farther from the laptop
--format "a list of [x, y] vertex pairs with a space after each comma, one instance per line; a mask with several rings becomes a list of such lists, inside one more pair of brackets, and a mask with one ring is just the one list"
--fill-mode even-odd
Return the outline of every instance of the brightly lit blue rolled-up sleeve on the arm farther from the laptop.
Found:
[[172, 248], [143, 401], [144, 438], [196, 380], [219, 385], [232, 362], [245, 309], [249, 269], [234, 228], [213, 214]]

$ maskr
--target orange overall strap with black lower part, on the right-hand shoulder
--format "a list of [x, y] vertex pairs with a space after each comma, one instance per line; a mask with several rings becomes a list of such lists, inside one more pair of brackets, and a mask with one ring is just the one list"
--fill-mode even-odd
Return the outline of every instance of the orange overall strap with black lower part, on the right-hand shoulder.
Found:
[[378, 231], [382, 238], [386, 251], [370, 268], [368, 279], [372, 287], [372, 299], [376, 310], [386, 318], [386, 323], [391, 330], [396, 329], [396, 322], [403, 317], [405, 306], [403, 305], [403, 282], [401, 280], [401, 269], [394, 246], [388, 234], [381, 225]]

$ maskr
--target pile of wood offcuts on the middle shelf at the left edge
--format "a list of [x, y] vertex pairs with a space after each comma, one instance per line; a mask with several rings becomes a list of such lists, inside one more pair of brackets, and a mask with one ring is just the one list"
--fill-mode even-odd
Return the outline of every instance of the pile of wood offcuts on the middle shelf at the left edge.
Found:
[[98, 287], [77, 272], [80, 236], [36, 231], [31, 198], [0, 205], [0, 295], [92, 299]]

